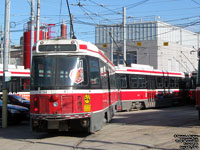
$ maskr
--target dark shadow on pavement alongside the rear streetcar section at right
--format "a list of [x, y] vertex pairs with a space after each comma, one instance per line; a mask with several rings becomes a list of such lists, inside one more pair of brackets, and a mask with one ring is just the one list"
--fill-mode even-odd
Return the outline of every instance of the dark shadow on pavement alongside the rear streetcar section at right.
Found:
[[198, 113], [194, 106], [179, 106], [116, 113], [111, 123], [144, 126], [199, 126]]

